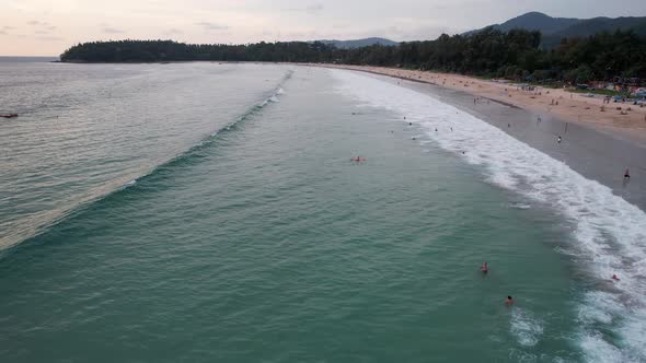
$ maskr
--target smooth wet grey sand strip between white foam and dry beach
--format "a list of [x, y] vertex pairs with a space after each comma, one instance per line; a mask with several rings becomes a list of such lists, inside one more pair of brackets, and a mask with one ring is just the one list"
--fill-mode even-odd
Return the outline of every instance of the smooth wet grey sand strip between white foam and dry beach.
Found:
[[[646, 211], [646, 183], [642, 182], [646, 179], [646, 144], [626, 142], [616, 132], [609, 132], [595, 125], [568, 124], [555, 114], [544, 115], [538, 122], [537, 113], [497, 99], [474, 104], [473, 94], [466, 90], [367, 73], [367, 77], [427, 94], [469, 113], [531, 148], [562, 161], [585, 178], [607, 186], [615, 196]], [[558, 137], [562, 137], [562, 142], [557, 142]], [[625, 167], [630, 167], [632, 176], [628, 185], [623, 184]]]

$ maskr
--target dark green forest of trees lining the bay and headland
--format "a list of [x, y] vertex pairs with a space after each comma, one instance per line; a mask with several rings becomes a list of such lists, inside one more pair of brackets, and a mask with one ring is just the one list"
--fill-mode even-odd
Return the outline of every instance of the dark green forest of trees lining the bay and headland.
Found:
[[119, 40], [79, 44], [65, 62], [270, 61], [335, 62], [505, 77], [524, 81], [588, 82], [613, 78], [646, 79], [646, 37], [632, 31], [598, 33], [540, 47], [541, 33], [492, 27], [471, 35], [396, 46], [338, 49], [323, 43], [191, 45], [172, 40]]

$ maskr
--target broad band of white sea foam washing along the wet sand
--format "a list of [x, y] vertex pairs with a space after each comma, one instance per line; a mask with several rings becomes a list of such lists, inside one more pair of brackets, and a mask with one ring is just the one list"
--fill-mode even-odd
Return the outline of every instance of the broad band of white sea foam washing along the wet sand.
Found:
[[[562, 248], [576, 251], [577, 261], [599, 281], [599, 291], [581, 301], [580, 348], [589, 361], [646, 361], [644, 211], [565, 163], [429, 95], [349, 71], [331, 72], [339, 81], [337, 92], [405, 116], [442, 149], [481, 166], [491, 183], [562, 213], [575, 226], [576, 239]], [[613, 273], [621, 281], [610, 282]]]

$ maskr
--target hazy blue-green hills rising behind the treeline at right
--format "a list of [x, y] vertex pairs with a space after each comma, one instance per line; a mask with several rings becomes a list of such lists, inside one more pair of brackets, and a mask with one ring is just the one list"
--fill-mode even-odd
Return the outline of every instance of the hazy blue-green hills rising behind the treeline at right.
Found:
[[[646, 35], [646, 16], [573, 19], [552, 17], [540, 12], [529, 12], [503, 24], [491, 26], [503, 32], [514, 28], [540, 31], [543, 34], [543, 45], [550, 47], [558, 44], [562, 38], [590, 36], [599, 32], [634, 30], [637, 34]], [[469, 35], [480, 31], [482, 30], [464, 34]]]

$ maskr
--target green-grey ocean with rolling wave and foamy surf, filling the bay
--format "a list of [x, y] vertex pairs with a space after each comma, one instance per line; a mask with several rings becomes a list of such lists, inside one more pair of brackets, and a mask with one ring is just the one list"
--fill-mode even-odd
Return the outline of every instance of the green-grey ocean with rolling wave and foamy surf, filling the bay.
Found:
[[2, 362], [646, 361], [644, 211], [438, 95], [218, 62], [0, 85]]

